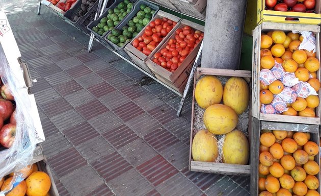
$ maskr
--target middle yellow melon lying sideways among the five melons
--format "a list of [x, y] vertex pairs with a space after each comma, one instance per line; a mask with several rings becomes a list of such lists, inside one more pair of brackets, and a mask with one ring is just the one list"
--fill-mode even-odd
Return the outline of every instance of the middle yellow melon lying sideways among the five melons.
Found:
[[229, 106], [214, 104], [206, 108], [203, 121], [208, 131], [221, 135], [233, 131], [237, 125], [238, 118], [236, 112]]

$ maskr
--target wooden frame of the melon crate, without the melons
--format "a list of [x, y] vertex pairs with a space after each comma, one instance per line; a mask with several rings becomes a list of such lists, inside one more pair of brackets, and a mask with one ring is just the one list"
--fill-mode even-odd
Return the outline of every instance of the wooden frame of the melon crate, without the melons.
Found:
[[[202, 75], [213, 75], [213, 76], [223, 76], [223, 77], [243, 77], [248, 83], [251, 83], [251, 71], [245, 70], [232, 70], [232, 69], [212, 69], [212, 68], [201, 68], [196, 69], [196, 75], [194, 76], [194, 90], [193, 90], [193, 100], [192, 100], [192, 120], [191, 120], [191, 140], [190, 140], [190, 159], [189, 159], [189, 169], [191, 171], [200, 171], [206, 173], [217, 173], [224, 175], [250, 175], [251, 165], [239, 165], [239, 164], [227, 164], [227, 163], [216, 163], [216, 162], [201, 162], [194, 161], [192, 159], [192, 143], [194, 135], [196, 134], [193, 130], [194, 127], [194, 114], [195, 114], [195, 86], [196, 81]], [[249, 84], [249, 87], [251, 85]], [[251, 99], [250, 99], [251, 101]], [[251, 104], [250, 104], [251, 105]], [[249, 112], [249, 115], [250, 112]], [[250, 122], [249, 122], [250, 125]], [[252, 133], [251, 127], [248, 128], [248, 133]], [[250, 141], [249, 141], [250, 144]], [[251, 145], [250, 145], [251, 149]], [[251, 151], [251, 150], [250, 150]]]

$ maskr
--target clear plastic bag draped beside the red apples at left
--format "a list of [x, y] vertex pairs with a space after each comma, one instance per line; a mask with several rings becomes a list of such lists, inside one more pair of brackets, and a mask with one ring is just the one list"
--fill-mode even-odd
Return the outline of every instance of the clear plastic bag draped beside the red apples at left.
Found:
[[[20, 76], [19, 76], [20, 75]], [[13, 72], [10, 68], [3, 48], [0, 46], [0, 76], [14, 95], [16, 105], [16, 135], [15, 140], [9, 149], [0, 151], [0, 179], [8, 175], [14, 169], [15, 174], [10, 184], [10, 189], [18, 185], [23, 179], [20, 169], [30, 164], [36, 148], [35, 127], [31, 111], [31, 104], [28, 96], [28, 89], [24, 80], [21, 82], [22, 70], [20, 73]], [[6, 191], [1, 191], [4, 195]]]

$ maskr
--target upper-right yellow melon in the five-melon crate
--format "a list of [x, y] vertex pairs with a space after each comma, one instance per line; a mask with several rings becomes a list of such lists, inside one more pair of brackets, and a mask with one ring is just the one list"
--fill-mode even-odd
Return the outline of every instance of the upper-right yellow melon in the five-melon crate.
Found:
[[231, 107], [237, 115], [242, 114], [250, 101], [249, 85], [243, 78], [228, 79], [223, 90], [223, 103]]

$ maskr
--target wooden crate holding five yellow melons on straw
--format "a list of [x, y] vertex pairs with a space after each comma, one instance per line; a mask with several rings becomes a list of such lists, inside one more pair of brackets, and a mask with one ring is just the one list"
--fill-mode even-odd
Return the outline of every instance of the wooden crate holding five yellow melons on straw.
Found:
[[189, 169], [250, 175], [251, 71], [196, 69]]

